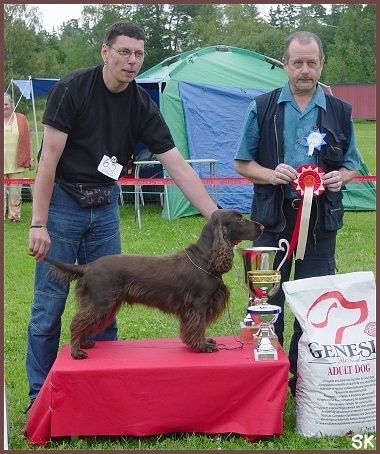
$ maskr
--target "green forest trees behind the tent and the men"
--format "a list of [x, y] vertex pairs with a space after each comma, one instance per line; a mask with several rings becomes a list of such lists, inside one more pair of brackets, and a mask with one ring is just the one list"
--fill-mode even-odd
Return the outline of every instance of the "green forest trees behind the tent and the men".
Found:
[[[375, 83], [375, 4], [278, 4], [266, 16], [255, 4], [99, 4], [84, 6], [79, 19], [47, 32], [38, 6], [5, 4], [4, 88], [11, 79], [60, 78], [100, 64], [105, 30], [120, 19], [137, 22], [146, 31], [142, 71], [181, 52], [217, 44], [281, 61], [287, 36], [308, 30], [324, 45], [321, 82]], [[37, 100], [37, 107], [45, 101]], [[28, 114], [29, 109], [30, 103], [21, 100], [18, 110]]]

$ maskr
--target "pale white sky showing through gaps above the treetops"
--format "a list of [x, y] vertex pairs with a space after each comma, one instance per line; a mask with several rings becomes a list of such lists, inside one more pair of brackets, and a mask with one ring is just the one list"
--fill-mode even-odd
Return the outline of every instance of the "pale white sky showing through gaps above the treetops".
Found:
[[[99, 3], [98, 3], [99, 4]], [[43, 28], [52, 32], [53, 29], [57, 29], [62, 25], [63, 22], [67, 22], [70, 19], [79, 19], [81, 16], [83, 4], [33, 4], [37, 6], [43, 17], [42, 24]], [[257, 5], [263, 11], [269, 11], [272, 5]]]

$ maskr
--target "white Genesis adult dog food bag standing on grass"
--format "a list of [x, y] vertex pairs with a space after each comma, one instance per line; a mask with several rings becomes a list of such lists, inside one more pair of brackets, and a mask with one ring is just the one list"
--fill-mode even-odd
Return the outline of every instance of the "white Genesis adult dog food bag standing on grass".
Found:
[[296, 429], [311, 436], [376, 430], [376, 302], [372, 272], [284, 282], [302, 327]]

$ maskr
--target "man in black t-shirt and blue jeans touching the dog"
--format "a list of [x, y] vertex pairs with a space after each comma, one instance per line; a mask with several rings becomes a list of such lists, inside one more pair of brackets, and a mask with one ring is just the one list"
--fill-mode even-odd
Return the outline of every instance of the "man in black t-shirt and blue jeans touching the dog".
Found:
[[[66, 75], [47, 101], [29, 231], [36, 259], [26, 357], [31, 402], [56, 358], [68, 295], [68, 287], [51, 279], [44, 258], [88, 263], [121, 252], [116, 180], [137, 142], [155, 154], [202, 215], [209, 218], [217, 209], [175, 147], [157, 105], [134, 80], [144, 45], [139, 26], [111, 25], [101, 49], [103, 65]], [[96, 339], [116, 337], [115, 321]]]

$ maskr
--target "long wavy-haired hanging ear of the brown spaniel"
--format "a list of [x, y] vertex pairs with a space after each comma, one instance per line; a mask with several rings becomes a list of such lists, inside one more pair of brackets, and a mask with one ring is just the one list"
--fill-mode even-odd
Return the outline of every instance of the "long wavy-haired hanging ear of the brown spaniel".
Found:
[[208, 270], [210, 273], [226, 273], [232, 268], [233, 259], [234, 253], [232, 244], [227, 239], [227, 229], [221, 223], [217, 223], [214, 229]]

